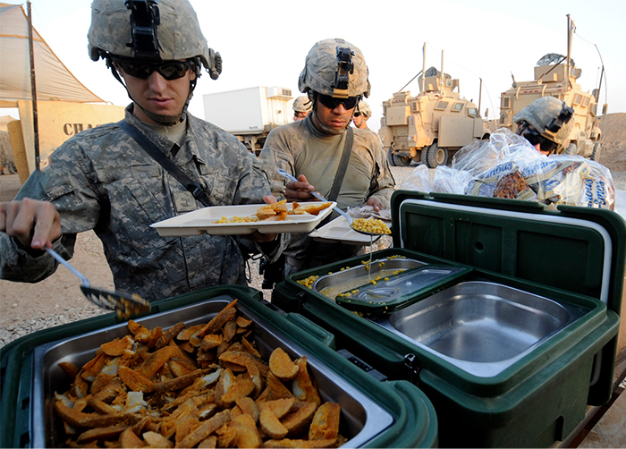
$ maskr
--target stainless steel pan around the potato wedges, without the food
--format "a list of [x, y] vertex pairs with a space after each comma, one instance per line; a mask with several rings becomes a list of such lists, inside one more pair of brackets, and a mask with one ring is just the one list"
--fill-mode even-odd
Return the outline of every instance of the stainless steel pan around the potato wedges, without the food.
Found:
[[[180, 321], [193, 326], [215, 317], [217, 312], [233, 299], [230, 295], [224, 294], [180, 309], [139, 318], [136, 321], [148, 328], [161, 326], [164, 330]], [[292, 358], [307, 356], [309, 373], [317, 382], [322, 400], [337, 402], [342, 408], [341, 432], [343, 436], [349, 438], [346, 447], [365, 445], [393, 424], [393, 417], [387, 411], [360, 393], [347, 379], [338, 377], [328, 369], [325, 361], [320, 360], [316, 354], [304, 353], [289, 335], [283, 334], [280, 329], [267, 323], [241, 302], [238, 303], [237, 309], [241, 315], [254, 321], [254, 340], [258, 352], [265, 360], [278, 346]], [[33, 447], [63, 446], [62, 434], [59, 433], [61, 422], [55, 417], [53, 403], [55, 392], [65, 392], [70, 386], [70, 380], [63, 369], [59, 368], [58, 363], [69, 361], [82, 366], [94, 357], [100, 344], [128, 333], [124, 323], [35, 348], [30, 396], [33, 401], [30, 416]]]

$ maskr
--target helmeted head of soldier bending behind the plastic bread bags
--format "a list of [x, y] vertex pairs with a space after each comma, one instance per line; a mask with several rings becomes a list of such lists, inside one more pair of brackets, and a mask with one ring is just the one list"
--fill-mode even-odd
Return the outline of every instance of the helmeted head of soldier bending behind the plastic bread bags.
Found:
[[517, 133], [529, 140], [540, 153], [561, 153], [570, 143], [574, 110], [556, 97], [541, 97], [513, 117]]

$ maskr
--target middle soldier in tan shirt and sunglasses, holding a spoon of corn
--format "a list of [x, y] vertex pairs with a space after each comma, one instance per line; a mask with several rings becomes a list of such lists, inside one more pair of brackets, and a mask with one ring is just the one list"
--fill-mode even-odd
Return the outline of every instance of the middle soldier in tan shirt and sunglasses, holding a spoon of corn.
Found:
[[[310, 191], [340, 208], [389, 208], [395, 182], [376, 135], [349, 126], [355, 107], [369, 95], [368, 66], [360, 49], [343, 39], [317, 42], [300, 73], [299, 89], [313, 104], [311, 114], [267, 136], [259, 158], [276, 197], [310, 201]], [[286, 182], [277, 168], [298, 182]], [[349, 258], [362, 250], [348, 244], [319, 243], [292, 233], [284, 251], [285, 275]]]

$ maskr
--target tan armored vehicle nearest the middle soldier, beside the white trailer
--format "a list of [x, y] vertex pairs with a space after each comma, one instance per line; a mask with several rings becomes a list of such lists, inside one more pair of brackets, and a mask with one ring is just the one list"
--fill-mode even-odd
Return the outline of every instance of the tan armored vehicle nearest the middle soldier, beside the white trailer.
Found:
[[[426, 46], [424, 55], [426, 62]], [[473, 140], [489, 138], [478, 107], [461, 98], [459, 80], [444, 73], [443, 60], [442, 52], [441, 71], [435, 67], [422, 70], [417, 97], [401, 91], [383, 102], [378, 134], [390, 165], [408, 166], [416, 161], [435, 168], [448, 164], [458, 149]]]

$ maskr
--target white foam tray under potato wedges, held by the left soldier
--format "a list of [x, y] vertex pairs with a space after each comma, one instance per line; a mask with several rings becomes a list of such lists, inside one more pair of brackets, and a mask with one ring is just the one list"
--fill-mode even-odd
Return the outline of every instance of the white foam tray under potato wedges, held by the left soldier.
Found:
[[[311, 204], [302, 202], [301, 205]], [[274, 217], [267, 220], [250, 223], [214, 223], [223, 216], [254, 216], [262, 204], [249, 204], [242, 206], [213, 206], [201, 208], [174, 216], [154, 224], [150, 227], [157, 229], [163, 237], [182, 237], [186, 235], [199, 235], [210, 233], [211, 235], [245, 235], [258, 231], [259, 233], [309, 233], [319, 222], [332, 212], [337, 203], [333, 202], [329, 208], [323, 209], [319, 215], [289, 215], [285, 220], [277, 220]], [[288, 204], [288, 208], [292, 208]]]

